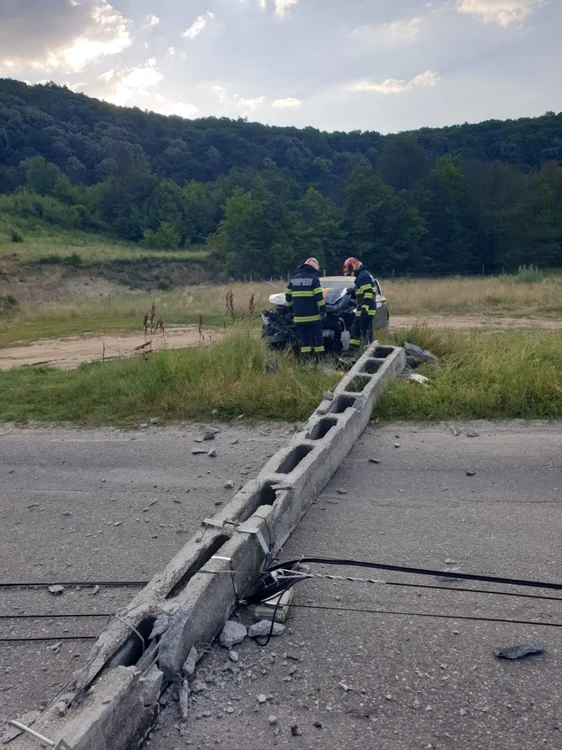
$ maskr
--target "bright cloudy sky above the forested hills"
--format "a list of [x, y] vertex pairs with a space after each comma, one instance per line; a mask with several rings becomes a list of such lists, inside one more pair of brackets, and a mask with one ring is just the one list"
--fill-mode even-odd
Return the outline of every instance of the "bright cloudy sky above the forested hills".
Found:
[[381, 133], [562, 110], [562, 0], [0, 0], [0, 77]]

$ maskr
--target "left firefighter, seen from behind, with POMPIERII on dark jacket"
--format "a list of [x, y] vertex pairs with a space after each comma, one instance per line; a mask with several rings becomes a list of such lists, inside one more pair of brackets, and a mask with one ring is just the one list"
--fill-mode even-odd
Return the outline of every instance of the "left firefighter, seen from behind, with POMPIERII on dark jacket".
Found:
[[289, 312], [294, 316], [301, 342], [301, 356], [319, 359], [324, 356], [322, 318], [326, 302], [320, 286], [320, 263], [309, 258], [290, 280], [285, 292]]

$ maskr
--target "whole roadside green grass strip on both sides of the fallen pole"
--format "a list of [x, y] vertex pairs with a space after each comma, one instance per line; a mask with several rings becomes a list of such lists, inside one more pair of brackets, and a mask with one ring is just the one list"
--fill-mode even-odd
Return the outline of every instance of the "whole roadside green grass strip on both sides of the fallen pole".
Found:
[[[384, 420], [561, 419], [562, 332], [474, 332], [414, 329], [407, 339], [439, 362], [420, 372], [429, 387], [390, 384], [376, 408]], [[132, 426], [163, 420], [302, 420], [337, 374], [273, 354], [237, 326], [212, 347], [163, 351], [148, 359], [96, 363], [73, 371], [46, 367], [0, 373], [0, 420]]]

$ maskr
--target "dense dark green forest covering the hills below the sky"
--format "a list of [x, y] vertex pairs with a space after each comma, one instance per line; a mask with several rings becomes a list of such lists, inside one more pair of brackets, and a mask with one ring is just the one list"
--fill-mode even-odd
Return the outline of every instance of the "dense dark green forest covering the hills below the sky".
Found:
[[[0, 79], [0, 212], [225, 274], [562, 266], [562, 113], [397, 135], [185, 120]], [[17, 232], [14, 239], [17, 240]]]

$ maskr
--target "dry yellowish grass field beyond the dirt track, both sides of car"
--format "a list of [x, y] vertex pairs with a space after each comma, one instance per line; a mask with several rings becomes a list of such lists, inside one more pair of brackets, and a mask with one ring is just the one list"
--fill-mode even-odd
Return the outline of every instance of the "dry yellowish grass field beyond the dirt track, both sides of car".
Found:
[[[171, 292], [119, 291], [110, 296], [21, 304], [10, 316], [0, 318], [0, 346], [38, 338], [59, 338], [77, 334], [138, 331], [152, 302], [167, 326], [198, 323], [223, 326], [230, 320], [226, 295], [232, 291], [237, 318], [260, 313], [269, 306], [269, 296], [283, 291], [276, 282], [235, 283], [198, 286]], [[479, 315], [559, 318], [562, 315], [562, 275], [518, 283], [517, 277], [503, 279], [451, 279], [383, 284], [393, 315]], [[251, 300], [253, 297], [253, 303]], [[259, 315], [255, 315], [259, 325]]]

